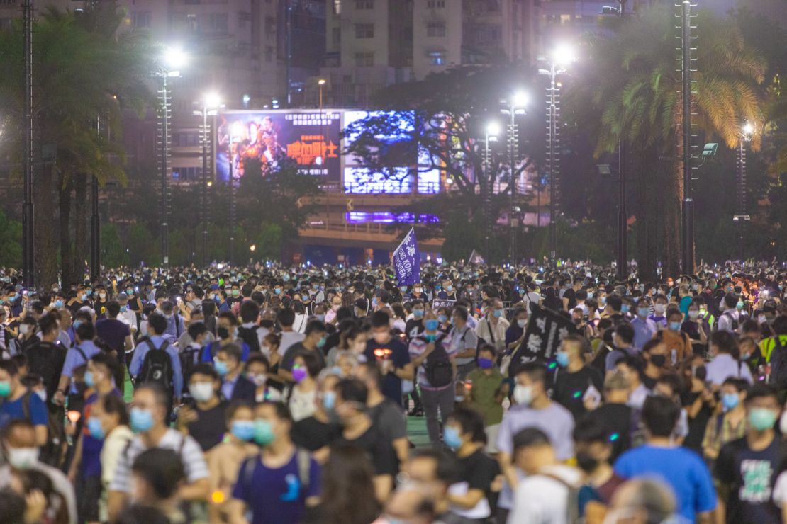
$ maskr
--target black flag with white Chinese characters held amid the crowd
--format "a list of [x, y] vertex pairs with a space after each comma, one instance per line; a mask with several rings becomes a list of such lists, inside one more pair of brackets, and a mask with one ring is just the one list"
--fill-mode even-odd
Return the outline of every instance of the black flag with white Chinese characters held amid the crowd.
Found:
[[560, 341], [576, 332], [575, 325], [567, 318], [536, 304], [530, 306], [525, 339], [511, 363], [513, 368], [531, 361], [551, 360], [560, 348]]

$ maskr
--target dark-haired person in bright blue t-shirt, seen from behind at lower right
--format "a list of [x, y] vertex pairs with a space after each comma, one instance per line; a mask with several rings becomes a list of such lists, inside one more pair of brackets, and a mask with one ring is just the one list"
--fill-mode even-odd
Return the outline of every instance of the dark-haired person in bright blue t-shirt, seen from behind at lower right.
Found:
[[648, 398], [641, 415], [648, 440], [623, 453], [615, 462], [615, 473], [626, 479], [663, 479], [672, 488], [683, 518], [711, 522], [716, 508], [713, 479], [700, 456], [674, 444], [672, 435], [679, 416], [680, 407], [671, 398]]

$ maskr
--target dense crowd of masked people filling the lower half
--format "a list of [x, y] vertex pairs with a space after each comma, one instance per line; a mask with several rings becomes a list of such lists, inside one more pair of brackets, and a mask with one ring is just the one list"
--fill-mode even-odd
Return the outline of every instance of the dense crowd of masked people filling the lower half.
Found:
[[781, 263], [419, 280], [3, 271], [0, 522], [787, 522]]

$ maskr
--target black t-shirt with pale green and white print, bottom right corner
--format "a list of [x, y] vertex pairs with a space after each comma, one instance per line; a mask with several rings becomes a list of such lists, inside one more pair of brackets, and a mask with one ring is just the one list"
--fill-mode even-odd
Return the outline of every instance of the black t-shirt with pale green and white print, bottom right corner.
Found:
[[771, 493], [784, 451], [778, 435], [762, 451], [749, 449], [745, 437], [722, 446], [716, 460], [716, 478], [730, 487], [727, 522], [781, 522]]

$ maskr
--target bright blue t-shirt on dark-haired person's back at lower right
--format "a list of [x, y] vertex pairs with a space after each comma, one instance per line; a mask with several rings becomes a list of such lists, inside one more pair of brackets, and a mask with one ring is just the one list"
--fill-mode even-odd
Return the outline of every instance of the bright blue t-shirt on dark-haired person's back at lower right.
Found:
[[696, 514], [716, 507], [716, 490], [708, 467], [699, 455], [685, 448], [643, 445], [630, 449], [615, 462], [623, 478], [656, 476], [672, 488], [678, 512], [694, 522]]

